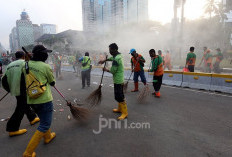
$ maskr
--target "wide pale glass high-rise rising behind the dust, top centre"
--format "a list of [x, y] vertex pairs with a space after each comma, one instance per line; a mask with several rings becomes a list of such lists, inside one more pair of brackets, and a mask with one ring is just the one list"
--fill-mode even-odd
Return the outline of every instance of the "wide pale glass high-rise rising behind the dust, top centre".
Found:
[[82, 0], [84, 31], [148, 20], [148, 0]]

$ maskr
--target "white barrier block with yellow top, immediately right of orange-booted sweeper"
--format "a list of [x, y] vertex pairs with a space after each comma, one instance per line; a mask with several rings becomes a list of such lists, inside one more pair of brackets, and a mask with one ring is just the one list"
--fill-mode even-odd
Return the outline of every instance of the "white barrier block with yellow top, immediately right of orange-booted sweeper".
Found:
[[180, 71], [164, 71], [163, 84], [178, 86], [182, 84], [183, 72]]

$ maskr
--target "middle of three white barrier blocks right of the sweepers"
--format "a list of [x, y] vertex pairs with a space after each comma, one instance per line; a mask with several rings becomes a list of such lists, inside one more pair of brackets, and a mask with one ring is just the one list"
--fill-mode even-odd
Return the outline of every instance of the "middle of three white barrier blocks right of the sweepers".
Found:
[[209, 90], [212, 74], [183, 72], [182, 87]]

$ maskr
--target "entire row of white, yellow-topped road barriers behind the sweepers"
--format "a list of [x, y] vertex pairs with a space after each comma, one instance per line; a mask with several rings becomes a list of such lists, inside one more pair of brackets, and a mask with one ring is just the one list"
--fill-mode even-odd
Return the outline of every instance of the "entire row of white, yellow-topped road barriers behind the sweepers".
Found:
[[[103, 66], [93, 66], [91, 74], [100, 76], [102, 74], [102, 67]], [[73, 71], [73, 68], [72, 66], [63, 66], [62, 70]], [[152, 82], [153, 72], [148, 72], [147, 69], [144, 71], [147, 82]], [[131, 74], [131, 69], [125, 68], [124, 72], [126, 80]], [[112, 77], [112, 74], [105, 73], [104, 76]], [[131, 76], [131, 80], [133, 80], [133, 76]], [[164, 71], [163, 84], [232, 94], [232, 75]]]

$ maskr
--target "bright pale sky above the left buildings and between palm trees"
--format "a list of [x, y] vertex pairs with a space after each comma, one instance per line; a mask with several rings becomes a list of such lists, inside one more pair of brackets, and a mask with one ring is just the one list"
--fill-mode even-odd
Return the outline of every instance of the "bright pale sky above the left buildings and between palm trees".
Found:
[[[149, 0], [149, 19], [165, 24], [173, 18], [174, 0]], [[204, 13], [206, 0], [187, 0], [187, 19], [197, 19]], [[0, 43], [9, 49], [9, 34], [26, 10], [33, 24], [56, 24], [58, 32], [82, 30], [81, 0], [0, 0]]]

